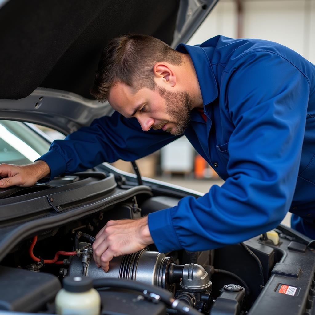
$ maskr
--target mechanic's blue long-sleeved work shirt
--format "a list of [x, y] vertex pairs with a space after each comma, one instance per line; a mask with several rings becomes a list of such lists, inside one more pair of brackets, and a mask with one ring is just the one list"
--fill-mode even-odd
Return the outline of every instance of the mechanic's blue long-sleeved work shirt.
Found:
[[[161, 252], [242, 242], [277, 226], [291, 211], [315, 238], [315, 66], [280, 44], [216, 36], [180, 44], [192, 58], [204, 114], [192, 110], [185, 135], [225, 183], [198, 199], [149, 214]], [[187, 78], [189, 80], [189, 78]], [[136, 160], [175, 137], [141, 130], [115, 112], [55, 140], [40, 159], [51, 178], [101, 162]]]

